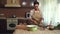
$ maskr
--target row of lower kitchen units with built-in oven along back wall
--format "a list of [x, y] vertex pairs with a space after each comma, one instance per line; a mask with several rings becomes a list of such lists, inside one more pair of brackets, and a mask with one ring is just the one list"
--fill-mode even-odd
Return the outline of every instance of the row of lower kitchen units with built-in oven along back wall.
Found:
[[16, 25], [29, 23], [28, 18], [0, 18], [0, 33], [11, 33]]

